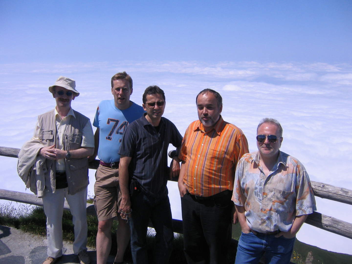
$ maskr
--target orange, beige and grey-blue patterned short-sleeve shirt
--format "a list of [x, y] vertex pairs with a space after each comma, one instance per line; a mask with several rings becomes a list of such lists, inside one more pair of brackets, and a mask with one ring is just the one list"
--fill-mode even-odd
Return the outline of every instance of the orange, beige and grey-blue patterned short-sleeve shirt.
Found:
[[262, 233], [287, 232], [296, 216], [316, 210], [306, 169], [282, 151], [268, 177], [259, 165], [259, 152], [245, 154], [235, 172], [232, 200], [244, 206], [248, 226]]

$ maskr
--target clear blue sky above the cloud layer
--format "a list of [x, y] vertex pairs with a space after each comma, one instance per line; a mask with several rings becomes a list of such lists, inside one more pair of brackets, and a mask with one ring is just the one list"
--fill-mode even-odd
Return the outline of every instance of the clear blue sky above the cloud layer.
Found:
[[352, 1], [0, 1], [0, 63], [352, 62]]

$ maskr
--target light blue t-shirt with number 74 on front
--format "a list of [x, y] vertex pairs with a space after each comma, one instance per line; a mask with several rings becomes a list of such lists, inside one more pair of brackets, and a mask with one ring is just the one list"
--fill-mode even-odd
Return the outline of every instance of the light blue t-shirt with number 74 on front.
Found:
[[96, 109], [93, 126], [99, 127], [98, 157], [102, 162], [111, 163], [120, 161], [122, 136], [125, 129], [145, 113], [142, 106], [133, 103], [125, 110], [115, 106], [114, 99], [101, 101]]

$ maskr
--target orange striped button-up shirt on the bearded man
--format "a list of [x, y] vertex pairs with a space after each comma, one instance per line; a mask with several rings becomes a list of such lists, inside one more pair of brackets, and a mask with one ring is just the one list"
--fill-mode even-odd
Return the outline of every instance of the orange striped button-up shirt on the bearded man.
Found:
[[186, 166], [183, 182], [187, 190], [204, 197], [233, 190], [237, 162], [248, 152], [243, 132], [225, 122], [221, 115], [208, 132], [199, 120], [192, 122], [184, 134], [178, 156], [186, 162], [182, 166]]

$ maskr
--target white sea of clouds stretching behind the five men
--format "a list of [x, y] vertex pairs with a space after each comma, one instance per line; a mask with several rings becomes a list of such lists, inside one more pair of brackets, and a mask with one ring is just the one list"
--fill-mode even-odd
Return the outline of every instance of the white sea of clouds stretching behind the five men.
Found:
[[[33, 135], [37, 115], [54, 108], [48, 92], [60, 76], [76, 80], [73, 108], [93, 122], [101, 100], [112, 99], [110, 79], [133, 78], [131, 100], [142, 104], [152, 84], [165, 91], [164, 117], [184, 134], [196, 120], [195, 97], [205, 88], [223, 98], [222, 117], [245, 133], [256, 151], [256, 127], [264, 117], [283, 127], [281, 150], [298, 158], [310, 179], [352, 189], [352, 66], [326, 63], [131, 62], [0, 65], [0, 146], [20, 148]], [[95, 130], [95, 128], [93, 128]], [[169, 148], [174, 149], [174, 147]], [[0, 188], [29, 193], [17, 175], [17, 159], [0, 157]], [[93, 194], [94, 170], [88, 190]], [[169, 182], [173, 218], [181, 219], [177, 184]], [[4, 200], [2, 203], [6, 203]], [[316, 197], [318, 212], [352, 222], [352, 206]], [[352, 254], [352, 240], [304, 224], [297, 238], [323, 249]]]

